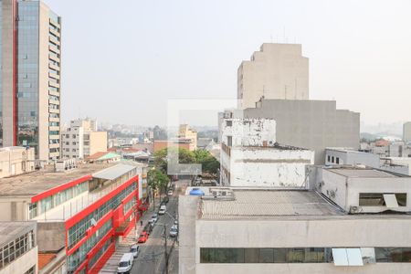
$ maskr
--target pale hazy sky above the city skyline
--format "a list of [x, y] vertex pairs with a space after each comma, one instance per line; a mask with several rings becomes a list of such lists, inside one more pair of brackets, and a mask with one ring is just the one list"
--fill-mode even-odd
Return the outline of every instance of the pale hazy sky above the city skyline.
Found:
[[167, 99], [235, 98], [241, 60], [284, 28], [310, 58], [311, 99], [411, 121], [408, 0], [45, 2], [63, 17], [64, 121], [165, 124]]

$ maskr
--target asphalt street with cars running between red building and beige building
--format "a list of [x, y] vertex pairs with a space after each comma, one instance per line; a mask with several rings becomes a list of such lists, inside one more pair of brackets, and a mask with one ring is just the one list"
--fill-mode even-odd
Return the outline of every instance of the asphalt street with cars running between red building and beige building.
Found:
[[[178, 273], [178, 245], [175, 237], [170, 237], [170, 227], [173, 226], [175, 213], [178, 213], [178, 195], [181, 192], [181, 183], [176, 182], [176, 187], [173, 196], [170, 196], [170, 200], [167, 206], [167, 213], [163, 216], [159, 216], [159, 219], [150, 234], [146, 243], [140, 244], [141, 251], [134, 260], [131, 273], [144, 273], [144, 274], [159, 274], [165, 273], [165, 256], [164, 256], [164, 226], [166, 229], [167, 237], [167, 251], [170, 252], [169, 259], [169, 273]], [[159, 200], [156, 200], [156, 211], [158, 211]], [[154, 212], [150, 212], [150, 216]], [[144, 224], [145, 225], [145, 224]]]

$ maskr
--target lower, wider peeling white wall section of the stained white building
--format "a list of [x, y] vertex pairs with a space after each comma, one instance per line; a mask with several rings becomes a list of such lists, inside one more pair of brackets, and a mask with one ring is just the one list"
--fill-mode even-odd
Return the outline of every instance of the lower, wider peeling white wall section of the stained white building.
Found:
[[232, 186], [300, 187], [305, 181], [305, 166], [314, 163], [314, 153], [270, 147], [233, 148], [229, 162]]

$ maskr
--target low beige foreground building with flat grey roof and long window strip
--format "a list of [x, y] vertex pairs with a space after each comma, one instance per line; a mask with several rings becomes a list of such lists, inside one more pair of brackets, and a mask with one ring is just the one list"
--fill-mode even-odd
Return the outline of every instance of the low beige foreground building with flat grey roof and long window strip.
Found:
[[180, 273], [411, 272], [408, 214], [347, 214], [313, 190], [241, 187], [189, 187], [179, 208]]

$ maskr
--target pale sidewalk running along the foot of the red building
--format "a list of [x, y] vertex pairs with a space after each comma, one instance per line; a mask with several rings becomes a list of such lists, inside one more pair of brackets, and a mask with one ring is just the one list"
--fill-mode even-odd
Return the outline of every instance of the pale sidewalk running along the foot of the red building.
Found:
[[[137, 222], [137, 237], [140, 235], [142, 229], [152, 217], [152, 214], [153, 204], [150, 205], [150, 207], [147, 209], [144, 215]], [[140, 221], [142, 221], [142, 226], [140, 226]], [[124, 253], [129, 252], [130, 246], [132, 246], [132, 244], [135, 244], [136, 242], [137, 240], [135, 227], [132, 227], [130, 233], [125, 238], [123, 238], [122, 241], [117, 245], [116, 251], [114, 251], [114, 253], [111, 255], [111, 258], [109, 258], [104, 267], [100, 270], [100, 273], [117, 273], [117, 266], [119, 265], [121, 256]]]

